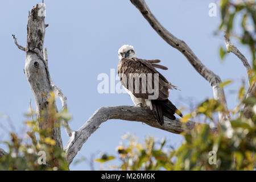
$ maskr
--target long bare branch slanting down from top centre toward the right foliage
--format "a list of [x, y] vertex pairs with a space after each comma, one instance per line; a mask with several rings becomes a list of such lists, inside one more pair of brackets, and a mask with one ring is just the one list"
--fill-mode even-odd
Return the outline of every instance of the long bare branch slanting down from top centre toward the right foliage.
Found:
[[187, 58], [189, 63], [196, 69], [196, 71], [205, 78], [209, 82], [209, 84], [213, 88], [213, 96], [214, 98], [220, 102], [220, 104], [224, 105], [226, 112], [219, 112], [220, 121], [228, 120], [230, 118], [228, 113], [228, 108], [226, 104], [226, 98], [224, 94], [224, 90], [220, 88], [221, 79], [218, 75], [210, 71], [201, 61], [197, 58], [195, 53], [187, 46], [187, 44], [180, 39], [177, 39], [174, 35], [166, 30], [158, 22], [155, 16], [151, 13], [150, 9], [146, 5], [144, 0], [130, 0], [131, 3], [144, 16], [144, 18], [150, 23], [151, 27], [168, 43], [170, 46], [179, 50], [183, 55]]

